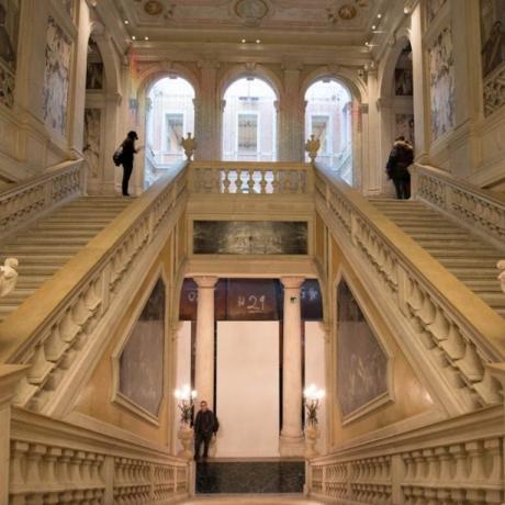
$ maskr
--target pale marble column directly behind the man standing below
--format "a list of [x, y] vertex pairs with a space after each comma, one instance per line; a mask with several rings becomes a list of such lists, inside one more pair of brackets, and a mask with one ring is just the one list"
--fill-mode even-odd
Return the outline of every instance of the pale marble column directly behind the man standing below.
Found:
[[216, 277], [195, 277], [197, 305], [197, 359], [194, 389], [198, 402], [205, 400], [214, 409], [214, 285]]

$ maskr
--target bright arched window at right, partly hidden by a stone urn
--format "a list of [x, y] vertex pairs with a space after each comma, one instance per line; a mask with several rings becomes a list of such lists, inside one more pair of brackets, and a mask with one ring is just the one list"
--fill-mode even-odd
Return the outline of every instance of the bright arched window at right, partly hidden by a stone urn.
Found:
[[[305, 93], [305, 135], [321, 142], [317, 161], [352, 184], [352, 100], [335, 80], [318, 80]], [[308, 160], [308, 157], [306, 158]]]

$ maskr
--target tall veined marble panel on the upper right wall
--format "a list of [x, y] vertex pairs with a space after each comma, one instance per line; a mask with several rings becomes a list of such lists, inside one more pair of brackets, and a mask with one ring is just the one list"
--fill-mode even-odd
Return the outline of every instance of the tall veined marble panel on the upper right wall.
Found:
[[456, 124], [454, 57], [452, 33], [445, 27], [428, 50], [431, 101], [431, 139], [436, 141]]

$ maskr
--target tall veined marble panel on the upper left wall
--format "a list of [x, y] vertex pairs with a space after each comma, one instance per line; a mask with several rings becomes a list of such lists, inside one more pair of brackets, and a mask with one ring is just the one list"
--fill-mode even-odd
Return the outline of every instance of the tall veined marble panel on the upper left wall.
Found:
[[65, 136], [67, 128], [70, 63], [71, 43], [56, 21], [49, 16], [42, 112], [44, 122], [61, 136]]

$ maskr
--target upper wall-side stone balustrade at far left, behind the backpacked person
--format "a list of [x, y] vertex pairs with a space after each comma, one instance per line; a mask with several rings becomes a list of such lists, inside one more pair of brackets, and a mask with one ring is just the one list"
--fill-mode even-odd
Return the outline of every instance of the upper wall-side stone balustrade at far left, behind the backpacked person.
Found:
[[0, 238], [85, 193], [82, 159], [53, 169], [0, 192]]

